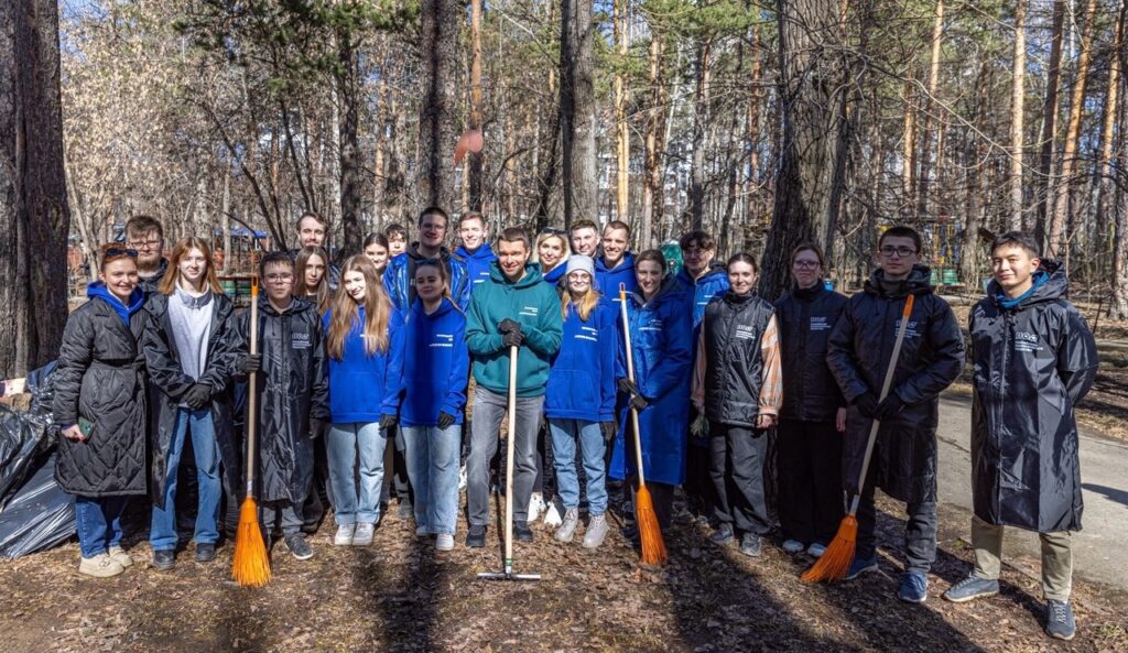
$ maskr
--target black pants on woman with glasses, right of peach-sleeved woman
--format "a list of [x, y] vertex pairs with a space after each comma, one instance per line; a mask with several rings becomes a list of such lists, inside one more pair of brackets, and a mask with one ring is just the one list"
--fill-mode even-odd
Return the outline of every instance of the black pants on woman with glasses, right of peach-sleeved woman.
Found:
[[784, 538], [830, 544], [845, 513], [843, 434], [834, 421], [782, 420], [776, 447]]

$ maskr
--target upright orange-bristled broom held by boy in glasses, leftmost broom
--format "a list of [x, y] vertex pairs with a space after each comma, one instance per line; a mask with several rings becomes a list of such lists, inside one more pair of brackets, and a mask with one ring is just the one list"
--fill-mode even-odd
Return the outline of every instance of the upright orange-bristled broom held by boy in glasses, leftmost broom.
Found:
[[[250, 280], [250, 353], [258, 353], [258, 277]], [[271, 558], [266, 555], [263, 532], [258, 527], [258, 506], [255, 504], [255, 441], [258, 430], [256, 381], [258, 372], [247, 380], [247, 497], [239, 508], [239, 529], [235, 535], [235, 557], [231, 577], [241, 586], [261, 586], [271, 580]]]

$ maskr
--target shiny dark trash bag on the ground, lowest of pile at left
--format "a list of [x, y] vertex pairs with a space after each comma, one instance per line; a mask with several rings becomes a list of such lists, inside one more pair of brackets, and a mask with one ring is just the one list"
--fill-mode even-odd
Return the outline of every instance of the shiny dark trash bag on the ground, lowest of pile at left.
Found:
[[55, 455], [0, 510], [0, 557], [12, 559], [74, 536], [74, 497], [55, 483]]

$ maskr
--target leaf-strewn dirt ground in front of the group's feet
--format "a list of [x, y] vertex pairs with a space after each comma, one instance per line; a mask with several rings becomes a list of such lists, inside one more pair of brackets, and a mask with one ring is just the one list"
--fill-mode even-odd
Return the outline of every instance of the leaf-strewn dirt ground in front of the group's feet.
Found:
[[[1128, 651], [1128, 607], [1079, 584], [1072, 643], [1041, 632], [1037, 580], [1007, 568], [1003, 593], [957, 606], [940, 594], [968, 572], [960, 540], [967, 517], [943, 509], [941, 550], [929, 598], [901, 603], [899, 515], [880, 521], [881, 572], [831, 586], [801, 583], [808, 561], [773, 540], [758, 559], [716, 547], [707, 529], [679, 513], [668, 533], [671, 563], [643, 570], [617, 531], [603, 547], [554, 541], [518, 545], [515, 570], [534, 583], [479, 581], [500, 566], [491, 528], [485, 549], [435, 553], [395, 510], [371, 547], [333, 547], [332, 526], [312, 537], [316, 556], [298, 562], [274, 549], [274, 579], [262, 589], [228, 580], [232, 546], [200, 565], [191, 549], [171, 572], [138, 564], [115, 579], [78, 575], [78, 548], [0, 563], [0, 629], [9, 653], [24, 651], [397, 651], [397, 652], [730, 652]], [[1034, 562], [1034, 568], [1037, 563]]]

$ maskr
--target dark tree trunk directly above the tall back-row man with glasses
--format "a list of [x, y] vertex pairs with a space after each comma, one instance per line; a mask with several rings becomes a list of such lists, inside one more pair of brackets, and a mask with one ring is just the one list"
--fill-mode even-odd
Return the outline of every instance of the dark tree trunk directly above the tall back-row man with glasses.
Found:
[[420, 201], [431, 206], [455, 205], [452, 148], [457, 140], [458, 32], [462, 5], [458, 0], [422, 0], [423, 102], [420, 105]]

